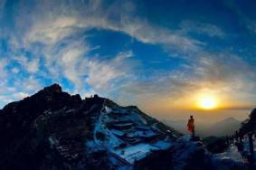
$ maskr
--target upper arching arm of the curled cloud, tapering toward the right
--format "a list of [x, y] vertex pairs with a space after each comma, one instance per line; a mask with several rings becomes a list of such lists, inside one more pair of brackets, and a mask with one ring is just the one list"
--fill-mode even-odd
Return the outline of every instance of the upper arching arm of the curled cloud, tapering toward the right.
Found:
[[[147, 19], [134, 15], [131, 3], [116, 2], [105, 6], [101, 1], [89, 1], [87, 5], [77, 2], [71, 6], [62, 2], [59, 3], [61, 5], [58, 4], [58, 10], [51, 14], [42, 13], [42, 5], [43, 9], [47, 10], [52, 4], [54, 3], [39, 3], [40, 8], [35, 7], [34, 15], [40, 19], [32, 19], [32, 26], [29, 32], [25, 33], [25, 42], [54, 44], [81, 30], [98, 28], [126, 33], [139, 42], [163, 44], [185, 52], [197, 50], [203, 44], [182, 33], [150, 24]], [[71, 10], [74, 6], [77, 7], [76, 10]], [[66, 11], [76, 12], [67, 14]]]

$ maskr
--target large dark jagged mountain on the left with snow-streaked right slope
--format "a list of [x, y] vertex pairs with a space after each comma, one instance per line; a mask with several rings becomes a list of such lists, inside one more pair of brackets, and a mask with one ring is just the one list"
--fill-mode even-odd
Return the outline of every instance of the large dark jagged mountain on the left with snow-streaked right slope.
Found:
[[0, 110], [0, 134], [3, 170], [132, 168], [180, 135], [137, 107], [81, 99], [58, 84]]

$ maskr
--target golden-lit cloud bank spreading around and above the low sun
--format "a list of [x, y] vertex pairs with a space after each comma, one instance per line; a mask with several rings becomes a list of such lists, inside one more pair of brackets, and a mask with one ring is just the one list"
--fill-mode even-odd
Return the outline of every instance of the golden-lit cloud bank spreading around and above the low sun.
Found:
[[144, 108], [154, 103], [158, 108], [178, 106], [185, 109], [193, 107], [199, 94], [213, 94], [221, 100], [223, 109], [253, 106], [256, 76], [250, 63], [228, 52], [200, 52], [197, 55], [195, 61], [179, 71], [152, 71], [145, 79], [133, 79], [119, 85], [114, 91], [118, 94], [117, 99], [129, 104], [136, 100]]

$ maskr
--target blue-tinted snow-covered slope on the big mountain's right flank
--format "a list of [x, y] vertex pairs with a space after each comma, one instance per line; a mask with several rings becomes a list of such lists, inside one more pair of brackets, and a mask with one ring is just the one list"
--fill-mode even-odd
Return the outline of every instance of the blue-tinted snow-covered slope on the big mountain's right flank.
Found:
[[[100, 137], [99, 137], [100, 134]], [[103, 136], [103, 137], [102, 137]], [[94, 145], [110, 151], [129, 164], [156, 150], [172, 146], [166, 134], [148, 126], [147, 119], [136, 110], [104, 105], [94, 127]], [[88, 144], [93, 147], [93, 144]], [[114, 164], [113, 160], [113, 164]]]

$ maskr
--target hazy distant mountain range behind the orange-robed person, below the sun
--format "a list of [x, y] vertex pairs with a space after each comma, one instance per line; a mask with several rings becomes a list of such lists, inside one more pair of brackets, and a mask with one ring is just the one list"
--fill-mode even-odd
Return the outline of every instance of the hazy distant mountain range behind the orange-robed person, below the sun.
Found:
[[[170, 127], [174, 127], [177, 131], [187, 134], [187, 120], [163, 120], [163, 122]], [[195, 121], [195, 132], [201, 137], [223, 137], [232, 135], [241, 127], [241, 123], [242, 122], [235, 118], [225, 118], [214, 124]]]

